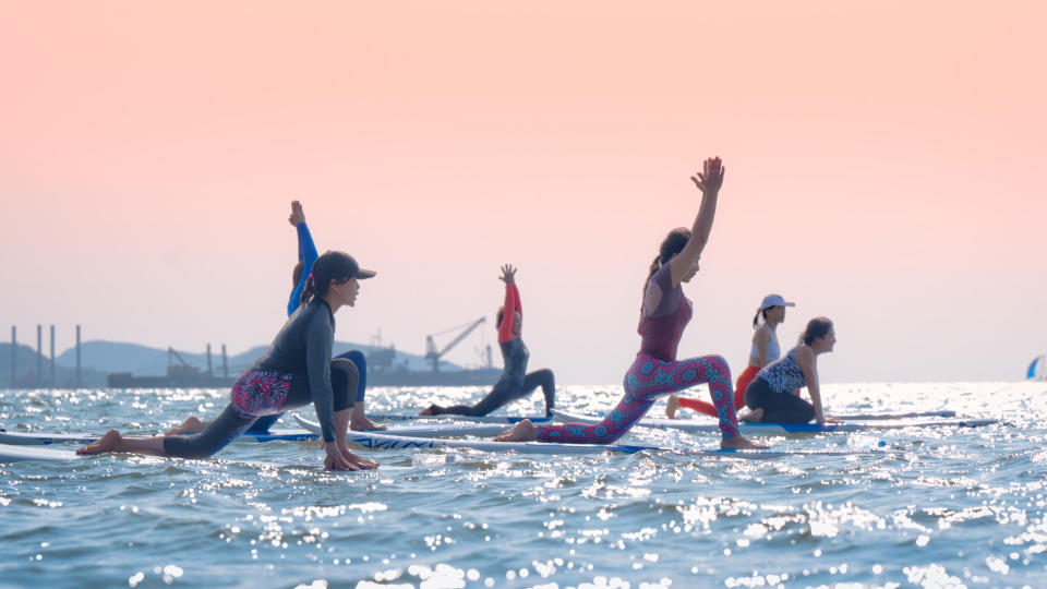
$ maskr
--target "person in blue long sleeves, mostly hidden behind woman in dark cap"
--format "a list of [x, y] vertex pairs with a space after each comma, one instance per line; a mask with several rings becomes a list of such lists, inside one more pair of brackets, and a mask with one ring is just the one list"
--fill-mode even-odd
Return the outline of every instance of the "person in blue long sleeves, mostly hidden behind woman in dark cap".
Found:
[[[309, 231], [309, 226], [305, 224], [305, 212], [302, 208], [302, 203], [298, 201], [291, 202], [291, 215], [287, 220], [291, 224], [291, 227], [294, 227], [296, 231], [298, 231], [298, 263], [294, 265], [294, 272], [291, 277], [294, 289], [291, 290], [291, 297], [287, 301], [287, 316], [290, 317], [301, 304], [305, 280], [312, 273], [313, 263], [316, 262], [320, 254], [316, 251], [316, 245], [313, 243], [313, 236]], [[349, 421], [349, 429], [354, 431], [384, 430], [385, 425], [380, 425], [371, 421], [364, 413], [364, 397], [368, 388], [366, 357], [364, 357], [360, 350], [349, 350], [333, 358], [330, 368], [332, 370], [348, 372], [351, 368], [346, 365], [347, 362], [351, 362], [356, 372], [360, 375], [357, 383], [357, 399], [352, 406], [352, 417]], [[280, 416], [282, 416], [282, 413], [261, 417], [248, 431], [252, 433], [266, 433], [269, 431], [269, 428], [280, 419]], [[190, 416], [180, 425], [172, 428], [167, 433], [170, 435], [197, 433], [209, 423], [209, 421], [202, 421], [196, 416]]]

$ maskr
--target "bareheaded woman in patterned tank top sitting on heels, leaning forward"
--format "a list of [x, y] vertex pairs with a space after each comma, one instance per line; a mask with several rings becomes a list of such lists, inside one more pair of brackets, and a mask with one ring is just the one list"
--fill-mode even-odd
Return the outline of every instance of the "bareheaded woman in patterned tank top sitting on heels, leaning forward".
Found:
[[[799, 344], [785, 358], [768, 364], [757, 373], [745, 389], [745, 405], [753, 410], [751, 421], [765, 423], [839, 423], [827, 418], [821, 409], [821, 388], [818, 386], [818, 356], [832, 351], [837, 332], [832, 322], [816, 317], [807, 323]], [[810, 402], [793, 392], [807, 387]]]

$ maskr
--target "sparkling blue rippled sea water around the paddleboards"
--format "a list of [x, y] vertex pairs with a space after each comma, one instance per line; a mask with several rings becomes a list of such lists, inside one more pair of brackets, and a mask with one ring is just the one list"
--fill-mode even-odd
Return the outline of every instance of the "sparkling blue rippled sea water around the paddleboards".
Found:
[[[825, 388], [830, 413], [951, 409], [1002, 422], [763, 438], [886, 450], [858, 457], [385, 450], [366, 453], [376, 471], [324, 472], [317, 444], [277, 442], [209, 460], [0, 464], [0, 587], [1045, 586], [1047, 384]], [[482, 393], [376, 388], [369, 408]], [[558, 402], [593, 412], [619, 395], [566, 386]], [[227, 396], [0, 390], [0, 428], [153, 434], [216, 414]], [[508, 412], [537, 413], [540, 397]], [[622, 442], [719, 444], [642, 429]]]

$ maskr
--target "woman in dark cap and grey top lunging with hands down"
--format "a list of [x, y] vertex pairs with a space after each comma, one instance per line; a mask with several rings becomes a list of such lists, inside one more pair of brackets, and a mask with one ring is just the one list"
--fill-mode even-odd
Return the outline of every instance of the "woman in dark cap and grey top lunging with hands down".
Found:
[[284, 324], [265, 354], [240, 376], [218, 419], [198, 434], [133, 438], [110, 430], [76, 454], [122, 452], [204, 458], [243, 434], [260, 417], [312, 401], [323, 429], [327, 453], [324, 466], [330, 470], [377, 467], [377, 462], [353, 454], [346, 445], [359, 375], [349, 362], [334, 371], [330, 362], [335, 313], [342, 305], [356, 304], [359, 280], [372, 276], [374, 273], [361, 269], [351, 255], [327, 252], [317, 257], [305, 281], [301, 309]]

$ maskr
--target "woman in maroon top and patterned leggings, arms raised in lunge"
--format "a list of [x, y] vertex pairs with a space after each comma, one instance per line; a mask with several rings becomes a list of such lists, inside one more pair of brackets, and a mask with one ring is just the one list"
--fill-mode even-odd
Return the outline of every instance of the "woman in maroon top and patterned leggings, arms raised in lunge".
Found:
[[731, 371], [721, 356], [676, 360], [679, 338], [693, 314], [691, 302], [684, 297], [682, 284], [689, 283], [698, 273], [698, 259], [712, 229], [723, 172], [720, 158], [710, 158], [705, 163], [703, 173], [691, 178], [702, 192], [693, 228], [671, 231], [651, 264], [640, 305], [640, 351], [625, 374], [625, 396], [617, 407], [603, 421], [592, 425], [566, 423], [535, 428], [525, 419], [495, 437], [496, 441], [610, 444], [639, 421], [659, 397], [708, 383], [720, 416], [723, 436], [720, 445], [724, 448], [767, 447], [754, 444], [738, 432]]

